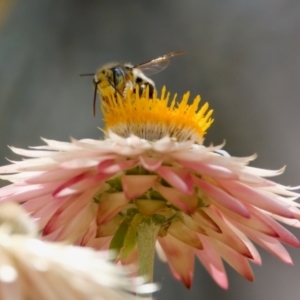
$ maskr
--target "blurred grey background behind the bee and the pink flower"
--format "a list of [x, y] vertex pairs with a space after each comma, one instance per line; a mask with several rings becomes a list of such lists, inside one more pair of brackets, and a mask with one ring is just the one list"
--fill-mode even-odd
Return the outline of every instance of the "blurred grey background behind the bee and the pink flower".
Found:
[[[101, 136], [101, 113], [92, 115], [92, 78], [79, 74], [177, 50], [187, 52], [153, 79], [158, 88], [190, 90], [210, 103], [215, 122], [206, 144], [226, 140], [231, 155], [257, 153], [253, 166], [287, 165], [275, 179], [299, 185], [298, 0], [0, 0], [1, 165], [4, 157], [15, 158], [7, 145]], [[228, 268], [228, 291], [198, 262], [186, 290], [157, 261], [155, 280], [163, 286], [155, 298], [299, 299], [300, 250], [288, 250], [293, 267], [261, 250], [254, 283]]]

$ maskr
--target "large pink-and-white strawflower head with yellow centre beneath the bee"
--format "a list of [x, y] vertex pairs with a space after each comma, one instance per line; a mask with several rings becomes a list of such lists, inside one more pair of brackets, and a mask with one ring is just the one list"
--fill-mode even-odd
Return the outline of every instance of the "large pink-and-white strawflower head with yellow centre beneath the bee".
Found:
[[[255, 156], [205, 146], [212, 111], [198, 109], [200, 97], [191, 105], [188, 98], [169, 101], [165, 89], [153, 99], [108, 95], [104, 140], [12, 147], [29, 158], [0, 167], [13, 182], [0, 189], [0, 201], [22, 203], [45, 239], [114, 249], [123, 264], [147, 260], [142, 255], [157, 240], [160, 257], [187, 287], [195, 257], [222, 288], [222, 259], [253, 280], [249, 261], [261, 263], [253, 242], [291, 264], [281, 243], [300, 243], [278, 221], [300, 227], [299, 194], [265, 178], [283, 169], [250, 167]], [[153, 225], [151, 239], [145, 224]]]

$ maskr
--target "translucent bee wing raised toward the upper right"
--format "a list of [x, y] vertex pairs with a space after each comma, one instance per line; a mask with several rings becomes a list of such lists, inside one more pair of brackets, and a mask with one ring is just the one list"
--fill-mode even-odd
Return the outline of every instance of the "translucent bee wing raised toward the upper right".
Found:
[[183, 53], [185, 53], [185, 51], [171, 52], [158, 58], [138, 64], [133, 68], [140, 69], [146, 76], [150, 76], [164, 70], [169, 65], [171, 57], [181, 55]]

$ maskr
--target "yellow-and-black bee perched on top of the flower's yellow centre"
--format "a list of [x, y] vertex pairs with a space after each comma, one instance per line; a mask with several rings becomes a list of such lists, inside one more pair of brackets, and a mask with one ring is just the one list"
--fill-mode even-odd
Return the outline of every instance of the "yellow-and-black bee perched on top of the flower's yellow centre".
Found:
[[149, 97], [151, 98], [155, 84], [147, 76], [161, 72], [169, 65], [171, 57], [181, 55], [184, 52], [171, 52], [135, 66], [130, 63], [108, 63], [98, 69], [95, 74], [81, 74], [80, 76], [94, 76], [94, 116], [96, 115], [97, 92], [99, 92], [102, 100], [105, 101], [105, 95], [108, 92], [118, 93], [121, 97], [124, 97], [128, 90], [132, 90], [135, 93], [138, 85], [139, 94], [142, 95], [148, 87]]

